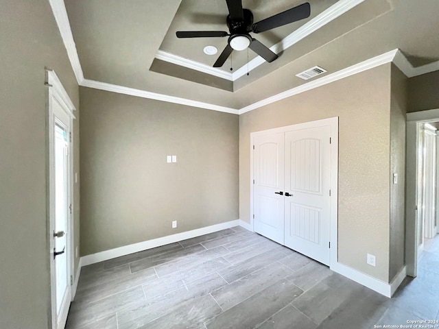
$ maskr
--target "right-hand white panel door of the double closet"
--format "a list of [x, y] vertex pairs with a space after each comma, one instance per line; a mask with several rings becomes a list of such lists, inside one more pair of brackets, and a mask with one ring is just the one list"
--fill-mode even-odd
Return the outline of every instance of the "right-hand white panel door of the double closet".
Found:
[[330, 261], [331, 127], [285, 133], [285, 245]]

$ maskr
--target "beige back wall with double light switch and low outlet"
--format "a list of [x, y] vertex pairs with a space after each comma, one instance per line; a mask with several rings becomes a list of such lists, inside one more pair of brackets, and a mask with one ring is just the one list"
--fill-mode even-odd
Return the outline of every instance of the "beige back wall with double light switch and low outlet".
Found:
[[82, 256], [239, 218], [237, 115], [91, 88], [80, 97]]

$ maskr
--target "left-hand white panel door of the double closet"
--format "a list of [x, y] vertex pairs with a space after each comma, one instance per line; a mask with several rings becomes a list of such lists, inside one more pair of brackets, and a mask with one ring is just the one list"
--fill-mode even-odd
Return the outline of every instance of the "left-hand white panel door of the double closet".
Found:
[[254, 232], [284, 243], [284, 133], [254, 138]]

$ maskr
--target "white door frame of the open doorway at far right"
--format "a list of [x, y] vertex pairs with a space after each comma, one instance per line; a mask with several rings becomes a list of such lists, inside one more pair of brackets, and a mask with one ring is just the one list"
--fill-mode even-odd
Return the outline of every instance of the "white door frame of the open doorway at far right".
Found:
[[420, 219], [418, 200], [418, 126], [439, 120], [439, 108], [407, 113], [407, 151], [405, 158], [405, 264], [407, 275], [416, 277]]

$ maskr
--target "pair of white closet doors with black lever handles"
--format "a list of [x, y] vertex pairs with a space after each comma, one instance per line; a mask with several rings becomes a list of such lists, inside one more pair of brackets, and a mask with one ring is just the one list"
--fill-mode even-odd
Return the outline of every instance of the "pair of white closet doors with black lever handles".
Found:
[[331, 126], [254, 136], [254, 231], [329, 265]]

